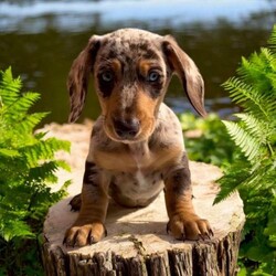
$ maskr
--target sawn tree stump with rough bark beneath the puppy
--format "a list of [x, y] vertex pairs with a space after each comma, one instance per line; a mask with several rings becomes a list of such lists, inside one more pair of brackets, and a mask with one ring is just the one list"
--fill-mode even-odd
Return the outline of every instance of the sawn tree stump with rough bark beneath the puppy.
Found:
[[193, 203], [198, 214], [209, 220], [214, 237], [190, 242], [176, 241], [167, 234], [163, 194], [144, 209], [124, 209], [109, 204], [107, 237], [84, 247], [63, 246], [64, 232], [77, 213], [68, 205], [81, 192], [91, 127], [85, 125], [44, 128], [50, 136], [72, 141], [71, 156], [63, 156], [73, 167], [72, 174], [59, 172], [61, 182], [73, 179], [70, 197], [49, 211], [44, 222], [42, 258], [45, 274], [53, 275], [235, 275], [241, 231], [245, 221], [237, 193], [213, 205], [219, 191], [219, 168], [190, 162]]

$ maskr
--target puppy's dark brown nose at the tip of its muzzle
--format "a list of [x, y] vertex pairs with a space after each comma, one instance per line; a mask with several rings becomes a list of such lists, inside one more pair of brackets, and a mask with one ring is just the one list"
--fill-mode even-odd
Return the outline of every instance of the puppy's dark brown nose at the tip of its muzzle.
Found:
[[130, 139], [139, 132], [140, 123], [137, 118], [114, 119], [114, 128], [120, 138]]

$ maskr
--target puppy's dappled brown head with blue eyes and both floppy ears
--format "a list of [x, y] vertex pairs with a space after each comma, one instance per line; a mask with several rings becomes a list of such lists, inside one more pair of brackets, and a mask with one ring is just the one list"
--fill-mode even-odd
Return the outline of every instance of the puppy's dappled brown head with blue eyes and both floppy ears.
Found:
[[114, 140], [135, 142], [152, 134], [173, 73], [194, 109], [205, 116], [203, 79], [193, 61], [169, 35], [123, 29], [92, 36], [74, 61], [67, 81], [71, 123], [81, 115], [91, 73], [104, 129]]

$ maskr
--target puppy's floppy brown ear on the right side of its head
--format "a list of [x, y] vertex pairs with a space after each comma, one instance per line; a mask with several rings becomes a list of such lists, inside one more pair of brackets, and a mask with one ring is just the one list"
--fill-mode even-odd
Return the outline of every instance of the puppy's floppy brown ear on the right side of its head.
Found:
[[164, 36], [162, 49], [169, 66], [181, 79], [190, 103], [201, 116], [205, 117], [204, 83], [194, 62], [170, 35]]

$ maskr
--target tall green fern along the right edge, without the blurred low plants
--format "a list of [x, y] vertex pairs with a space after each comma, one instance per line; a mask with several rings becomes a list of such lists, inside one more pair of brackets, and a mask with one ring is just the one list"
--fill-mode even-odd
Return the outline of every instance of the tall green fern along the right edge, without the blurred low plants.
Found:
[[243, 155], [220, 180], [214, 202], [240, 191], [246, 214], [240, 255], [254, 262], [253, 275], [276, 275], [276, 25], [268, 43], [243, 57], [237, 76], [223, 84], [244, 109], [237, 121], [223, 121]]

